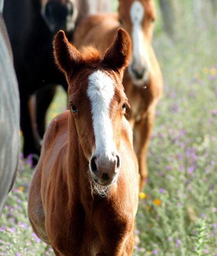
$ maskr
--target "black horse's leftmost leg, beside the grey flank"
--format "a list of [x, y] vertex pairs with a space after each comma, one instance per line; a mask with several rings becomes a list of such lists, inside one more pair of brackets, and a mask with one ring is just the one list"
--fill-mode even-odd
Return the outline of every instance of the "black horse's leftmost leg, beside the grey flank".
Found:
[[22, 93], [20, 94], [20, 109], [20, 125], [24, 137], [24, 157], [27, 157], [31, 153], [40, 155], [41, 145], [40, 141], [38, 140], [38, 136], [34, 134], [34, 128], [29, 108], [29, 97], [22, 95]]

